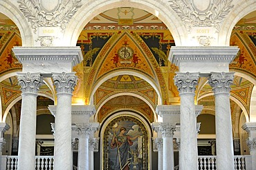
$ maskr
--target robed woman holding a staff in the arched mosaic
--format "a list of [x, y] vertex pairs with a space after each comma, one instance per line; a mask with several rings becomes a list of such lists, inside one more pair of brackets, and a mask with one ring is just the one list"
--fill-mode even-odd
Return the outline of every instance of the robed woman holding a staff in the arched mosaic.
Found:
[[129, 170], [129, 164], [131, 164], [130, 146], [134, 144], [131, 140], [136, 140], [138, 136], [131, 138], [130, 136], [125, 135], [126, 131], [127, 129], [125, 127], [120, 128], [120, 133], [118, 135], [116, 135], [114, 131], [114, 135], [111, 140], [111, 148], [118, 149], [114, 165], [115, 170]]

